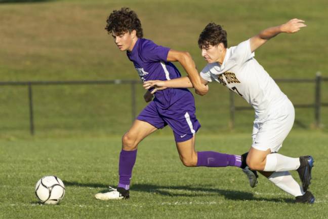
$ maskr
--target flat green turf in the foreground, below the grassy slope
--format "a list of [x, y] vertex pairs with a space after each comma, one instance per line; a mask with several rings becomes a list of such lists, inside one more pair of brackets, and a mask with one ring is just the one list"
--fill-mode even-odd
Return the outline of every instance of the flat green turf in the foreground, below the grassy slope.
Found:
[[[328, 197], [327, 135], [292, 131], [280, 153], [315, 158], [311, 192], [314, 205], [295, 204], [263, 176], [252, 189], [242, 172], [228, 168], [187, 168], [173, 136], [149, 137], [139, 147], [131, 199], [99, 201], [94, 195], [116, 186], [119, 137], [25, 138], [0, 140], [0, 218], [325, 218]], [[197, 136], [197, 150], [243, 153], [248, 134]], [[158, 153], [160, 152], [160, 153]], [[36, 181], [57, 175], [66, 194], [56, 206], [40, 205]], [[298, 179], [296, 171], [293, 175]]]

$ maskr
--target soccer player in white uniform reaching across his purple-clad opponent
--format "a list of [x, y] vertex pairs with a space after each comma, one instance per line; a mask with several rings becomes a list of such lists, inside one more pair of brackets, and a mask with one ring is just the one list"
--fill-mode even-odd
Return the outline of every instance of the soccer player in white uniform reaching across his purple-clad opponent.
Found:
[[[314, 203], [315, 198], [308, 191], [313, 158], [291, 158], [277, 153], [293, 127], [294, 106], [254, 58], [254, 51], [277, 34], [295, 33], [305, 26], [303, 20], [292, 19], [227, 48], [226, 31], [221, 25], [209, 23], [198, 39], [201, 55], [208, 62], [200, 72], [199, 80], [204, 85], [216, 81], [226, 86], [255, 109], [253, 144], [249, 153], [244, 155], [248, 166], [295, 196], [296, 202]], [[148, 81], [144, 87], [154, 87], [154, 93], [166, 88], [191, 88], [192, 83], [188, 77], [183, 77], [171, 81]], [[298, 171], [302, 187], [289, 173], [290, 170]]]

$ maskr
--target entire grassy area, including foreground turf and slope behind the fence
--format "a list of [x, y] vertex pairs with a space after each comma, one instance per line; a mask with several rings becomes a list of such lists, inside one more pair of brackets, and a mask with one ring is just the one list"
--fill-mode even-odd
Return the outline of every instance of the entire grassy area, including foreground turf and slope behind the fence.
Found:
[[[13, 2], [15, 2], [13, 4]], [[297, 34], [281, 34], [256, 51], [272, 78], [328, 77], [326, 0], [0, 0], [0, 82], [139, 80], [133, 64], [104, 30], [109, 13], [131, 7], [144, 36], [188, 51], [198, 69], [206, 63], [197, 38], [213, 21], [228, 32], [228, 45], [247, 40], [263, 28], [291, 18], [308, 25]], [[180, 65], [182, 75], [185, 72]], [[278, 84], [294, 104], [314, 101], [314, 84]], [[328, 102], [328, 83], [321, 87]], [[137, 112], [146, 105], [136, 89]], [[315, 159], [312, 206], [264, 177], [255, 189], [236, 168], [186, 168], [179, 161], [169, 128], [139, 147], [131, 199], [102, 202], [94, 194], [116, 187], [120, 136], [131, 125], [128, 85], [33, 87], [35, 136], [29, 136], [27, 87], [0, 86], [0, 218], [327, 218], [328, 107], [321, 108], [322, 129], [313, 129], [313, 109], [297, 108], [296, 121], [281, 153]], [[245, 105], [235, 98], [236, 105]], [[195, 95], [197, 150], [241, 154], [251, 144], [254, 112], [236, 112], [229, 128], [229, 96], [212, 83]], [[39, 205], [36, 181], [57, 175], [66, 185], [60, 205]], [[297, 177], [295, 172], [294, 176]]]

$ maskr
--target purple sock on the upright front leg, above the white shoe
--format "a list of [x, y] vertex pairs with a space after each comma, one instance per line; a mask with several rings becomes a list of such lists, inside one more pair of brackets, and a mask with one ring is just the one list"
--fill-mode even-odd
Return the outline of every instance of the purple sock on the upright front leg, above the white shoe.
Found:
[[130, 180], [132, 177], [132, 169], [137, 159], [137, 150], [124, 151], [119, 154], [118, 174], [119, 182], [117, 187], [130, 189]]

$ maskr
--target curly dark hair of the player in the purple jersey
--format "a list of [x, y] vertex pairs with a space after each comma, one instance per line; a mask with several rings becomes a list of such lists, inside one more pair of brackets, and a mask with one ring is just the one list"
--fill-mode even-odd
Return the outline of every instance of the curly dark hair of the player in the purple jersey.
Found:
[[126, 32], [137, 31], [138, 38], [143, 37], [141, 22], [136, 12], [130, 8], [121, 8], [120, 10], [114, 10], [107, 18], [107, 25], [105, 27], [108, 34], [114, 32], [116, 35], [120, 35]]

